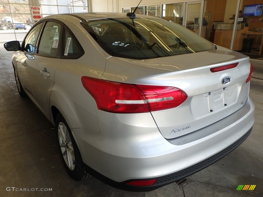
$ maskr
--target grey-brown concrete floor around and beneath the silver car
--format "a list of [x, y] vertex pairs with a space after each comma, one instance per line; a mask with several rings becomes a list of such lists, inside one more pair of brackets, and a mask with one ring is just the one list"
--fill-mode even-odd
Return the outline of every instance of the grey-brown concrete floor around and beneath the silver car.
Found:
[[[68, 176], [53, 126], [29, 98], [17, 92], [12, 54], [0, 44], [0, 196], [263, 197], [262, 62], [252, 61], [256, 78], [251, 80], [250, 97], [255, 103], [255, 124], [245, 142], [188, 177], [182, 186], [172, 183], [151, 192], [134, 193], [112, 188], [93, 177], [76, 182]], [[239, 185], [256, 187], [253, 191], [237, 191]], [[24, 188], [26, 191], [16, 191]], [[41, 188], [52, 191], [36, 191]]]

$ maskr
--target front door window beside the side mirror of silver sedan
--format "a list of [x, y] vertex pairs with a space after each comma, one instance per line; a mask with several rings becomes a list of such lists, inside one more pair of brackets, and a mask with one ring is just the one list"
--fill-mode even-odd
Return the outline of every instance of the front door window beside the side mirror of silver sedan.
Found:
[[43, 23], [37, 24], [30, 32], [22, 43], [21, 50], [27, 53], [35, 53], [37, 38], [41, 31]]

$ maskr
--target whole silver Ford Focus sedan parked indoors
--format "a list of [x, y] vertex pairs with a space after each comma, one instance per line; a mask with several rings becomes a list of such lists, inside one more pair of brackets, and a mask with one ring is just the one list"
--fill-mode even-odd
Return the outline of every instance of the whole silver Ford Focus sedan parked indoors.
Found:
[[4, 47], [75, 180], [154, 190], [221, 159], [254, 124], [249, 57], [161, 18], [50, 15]]

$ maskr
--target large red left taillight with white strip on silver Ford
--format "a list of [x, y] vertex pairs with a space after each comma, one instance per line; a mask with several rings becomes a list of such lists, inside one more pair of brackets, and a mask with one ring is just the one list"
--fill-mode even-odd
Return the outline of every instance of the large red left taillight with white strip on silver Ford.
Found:
[[99, 110], [113, 113], [143, 113], [181, 105], [184, 91], [169, 86], [124, 84], [92, 77], [81, 77], [83, 87], [94, 98]]

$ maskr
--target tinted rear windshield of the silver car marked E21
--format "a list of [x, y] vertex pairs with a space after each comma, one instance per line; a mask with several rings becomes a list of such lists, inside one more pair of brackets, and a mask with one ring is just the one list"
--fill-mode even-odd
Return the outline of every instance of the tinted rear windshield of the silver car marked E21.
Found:
[[[134, 23], [133, 23], [134, 22]], [[215, 50], [213, 44], [190, 30], [160, 18], [96, 19], [81, 22], [110, 55], [129, 59]]]

